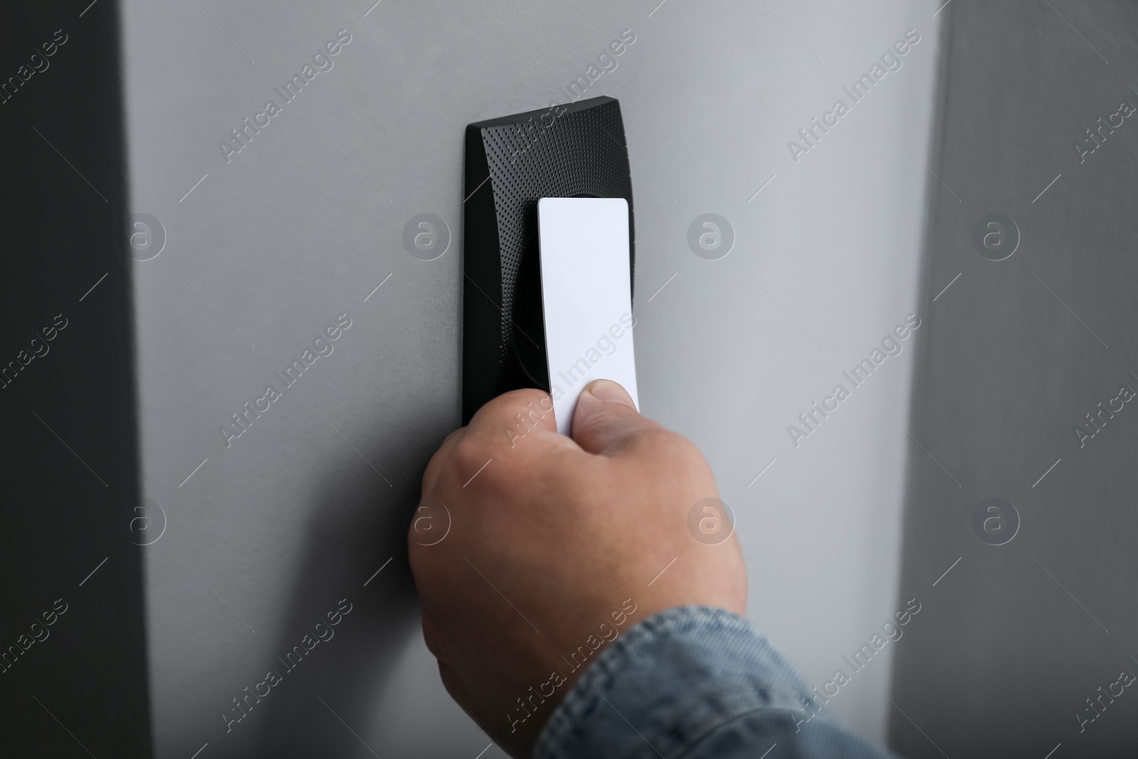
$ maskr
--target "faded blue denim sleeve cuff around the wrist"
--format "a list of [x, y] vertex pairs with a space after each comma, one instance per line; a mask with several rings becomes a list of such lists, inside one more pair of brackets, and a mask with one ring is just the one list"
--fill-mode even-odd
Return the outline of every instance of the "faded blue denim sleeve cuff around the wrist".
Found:
[[604, 650], [550, 716], [534, 759], [888, 759], [836, 725], [750, 622], [679, 607]]

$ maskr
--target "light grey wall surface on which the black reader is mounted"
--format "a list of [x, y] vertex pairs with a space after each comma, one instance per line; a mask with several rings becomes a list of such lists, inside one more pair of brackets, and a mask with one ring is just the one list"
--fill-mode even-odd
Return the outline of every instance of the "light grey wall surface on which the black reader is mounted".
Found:
[[[146, 555], [157, 756], [487, 746], [423, 647], [401, 519], [459, 420], [463, 126], [564, 101], [578, 77], [624, 110], [643, 411], [710, 460], [751, 618], [828, 679], [898, 609], [938, 5], [126, 0], [130, 203], [165, 236], [133, 271], [142, 494], [166, 525]], [[423, 213], [452, 238], [434, 261], [403, 244]], [[706, 213], [732, 234], [701, 257]], [[909, 314], [921, 327], [882, 347]], [[310, 348], [328, 355], [286, 387]], [[875, 348], [855, 387], [843, 372]], [[840, 383], [849, 397], [801, 427]], [[907, 642], [831, 702], [863, 735], [884, 739]]]

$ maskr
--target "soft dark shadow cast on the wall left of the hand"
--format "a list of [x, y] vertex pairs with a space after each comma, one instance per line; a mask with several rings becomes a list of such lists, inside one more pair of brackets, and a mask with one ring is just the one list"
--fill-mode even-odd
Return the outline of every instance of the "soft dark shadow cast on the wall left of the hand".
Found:
[[[426, 437], [412, 407], [395, 423], [386, 419], [386, 440]], [[378, 418], [373, 424], [380, 424]], [[255, 744], [244, 745], [248, 753], [242, 756], [363, 751], [352, 732], [366, 739], [393, 670], [417, 642], [420, 614], [407, 566], [406, 515], [419, 501], [419, 472], [434, 446], [420, 443], [401, 452], [388, 445], [371, 457], [391, 462], [385, 469], [393, 472], [414, 472], [394, 487], [358, 456], [329, 451], [319, 467], [322, 475], [305, 509], [305, 546], [291, 602], [273, 645], [278, 659], [266, 662], [279, 679], [249, 684], [267, 695], [259, 703], [245, 695], [242, 702], [267, 713], [257, 720], [256, 732], [249, 731]], [[240, 712], [234, 708], [231, 713]], [[236, 733], [241, 726], [231, 727]], [[336, 735], [343, 736], [341, 748], [335, 745]], [[384, 751], [373, 743], [371, 749]]]

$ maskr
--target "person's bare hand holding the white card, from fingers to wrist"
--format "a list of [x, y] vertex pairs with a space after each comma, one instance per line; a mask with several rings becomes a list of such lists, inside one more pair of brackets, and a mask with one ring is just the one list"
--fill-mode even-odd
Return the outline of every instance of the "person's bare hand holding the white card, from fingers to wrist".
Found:
[[447, 692], [529, 756], [577, 677], [635, 622], [686, 604], [743, 613], [734, 534], [716, 543], [690, 528], [731, 533], [696, 506], [718, 495], [699, 449], [641, 416], [616, 382], [585, 388], [571, 439], [545, 393], [487, 403], [431, 457], [409, 534]]

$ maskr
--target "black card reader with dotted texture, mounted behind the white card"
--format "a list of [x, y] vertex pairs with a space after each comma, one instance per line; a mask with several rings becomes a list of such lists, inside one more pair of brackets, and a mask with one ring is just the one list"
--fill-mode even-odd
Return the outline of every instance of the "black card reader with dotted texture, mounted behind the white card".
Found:
[[[544, 363], [541, 279], [535, 275], [541, 198], [627, 200], [629, 267], [635, 271], [620, 104], [593, 98], [470, 124], [465, 184], [463, 423], [495, 395], [521, 387], [549, 389], [544, 368], [529, 360], [527, 372], [519, 357], [520, 347]], [[523, 266], [527, 261], [531, 263]], [[530, 282], [521, 290], [519, 272]]]

